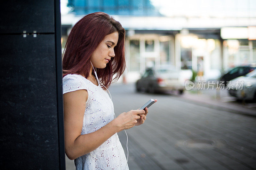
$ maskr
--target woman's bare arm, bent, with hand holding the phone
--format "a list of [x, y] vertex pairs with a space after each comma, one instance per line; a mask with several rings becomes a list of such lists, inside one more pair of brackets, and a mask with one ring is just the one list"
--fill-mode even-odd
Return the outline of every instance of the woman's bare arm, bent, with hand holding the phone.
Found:
[[136, 119], [140, 118], [138, 115], [145, 113], [144, 110], [121, 113], [99, 130], [81, 135], [87, 98], [85, 89], [63, 95], [65, 151], [71, 160], [95, 150], [116, 132], [133, 127], [137, 123]]

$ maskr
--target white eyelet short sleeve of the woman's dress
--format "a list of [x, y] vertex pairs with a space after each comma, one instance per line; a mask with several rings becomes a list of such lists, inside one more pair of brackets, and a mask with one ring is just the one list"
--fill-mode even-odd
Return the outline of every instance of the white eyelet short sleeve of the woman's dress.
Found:
[[86, 83], [77, 74], [68, 74], [65, 77], [63, 77], [62, 87], [63, 94], [71, 91], [88, 89]]

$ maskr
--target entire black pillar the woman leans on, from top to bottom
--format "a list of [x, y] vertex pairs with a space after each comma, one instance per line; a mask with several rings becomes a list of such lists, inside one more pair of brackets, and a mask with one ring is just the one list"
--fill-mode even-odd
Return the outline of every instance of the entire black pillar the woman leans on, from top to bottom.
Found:
[[65, 169], [60, 1], [3, 1], [0, 167]]

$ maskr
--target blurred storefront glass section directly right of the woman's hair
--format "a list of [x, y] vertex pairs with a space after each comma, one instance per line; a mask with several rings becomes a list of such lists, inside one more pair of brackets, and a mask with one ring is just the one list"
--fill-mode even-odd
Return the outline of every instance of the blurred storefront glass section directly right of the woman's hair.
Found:
[[143, 73], [149, 67], [175, 65], [172, 36], [140, 34], [129, 37], [127, 41], [129, 72]]

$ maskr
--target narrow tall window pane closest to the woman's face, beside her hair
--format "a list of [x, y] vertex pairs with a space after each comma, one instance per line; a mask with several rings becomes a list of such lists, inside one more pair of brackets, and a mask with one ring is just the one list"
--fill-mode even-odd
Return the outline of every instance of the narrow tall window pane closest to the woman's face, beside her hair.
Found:
[[140, 71], [139, 40], [130, 40], [130, 71]]

